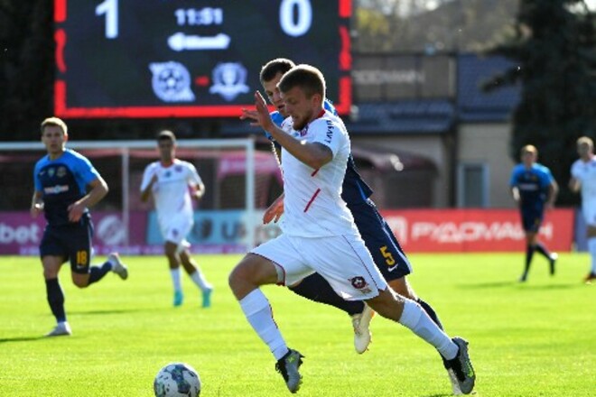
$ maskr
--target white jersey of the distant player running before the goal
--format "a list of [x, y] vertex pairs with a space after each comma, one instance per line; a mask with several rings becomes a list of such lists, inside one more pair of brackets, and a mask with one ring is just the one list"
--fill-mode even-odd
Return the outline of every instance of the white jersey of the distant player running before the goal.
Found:
[[190, 162], [174, 159], [172, 165], [163, 166], [162, 162], [152, 162], [144, 169], [141, 191], [157, 175], [152, 187], [157, 220], [163, 227], [172, 219], [187, 217], [192, 219], [193, 209], [189, 187], [199, 186], [199, 173]]

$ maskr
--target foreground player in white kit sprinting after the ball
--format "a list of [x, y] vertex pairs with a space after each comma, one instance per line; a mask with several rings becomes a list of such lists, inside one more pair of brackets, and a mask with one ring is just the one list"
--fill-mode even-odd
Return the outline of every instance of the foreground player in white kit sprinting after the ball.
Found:
[[318, 272], [345, 300], [365, 300], [381, 316], [410, 328], [449, 362], [461, 392], [470, 393], [475, 374], [468, 344], [450, 338], [424, 309], [392, 291], [378, 271], [346, 203], [341, 185], [349, 159], [349, 135], [340, 118], [323, 108], [325, 80], [309, 65], [284, 74], [278, 88], [291, 118], [275, 125], [265, 99], [256, 92], [256, 110], [243, 110], [282, 148], [283, 234], [248, 253], [229, 275], [229, 285], [248, 322], [269, 346], [276, 369], [290, 392], [302, 383], [303, 355], [290, 349], [277, 328], [261, 285], [293, 285]]

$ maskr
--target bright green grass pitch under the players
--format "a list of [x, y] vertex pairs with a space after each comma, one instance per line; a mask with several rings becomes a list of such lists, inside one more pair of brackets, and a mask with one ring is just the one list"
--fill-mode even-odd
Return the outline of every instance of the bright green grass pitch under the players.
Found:
[[[289, 395], [275, 360], [249, 328], [228, 289], [238, 255], [196, 255], [215, 284], [213, 306], [184, 277], [185, 301], [172, 308], [163, 257], [124, 257], [115, 274], [87, 290], [61, 283], [72, 337], [44, 338], [54, 325], [37, 257], [0, 259], [0, 395], [152, 396], [157, 371], [194, 366], [201, 396]], [[411, 254], [415, 291], [439, 313], [448, 334], [470, 341], [476, 395], [596, 395], [596, 284], [583, 284], [590, 258], [562, 254], [554, 277], [535, 255], [517, 282], [523, 254]], [[306, 396], [451, 395], [442, 363], [409, 330], [377, 316], [364, 355], [352, 346], [349, 318], [282, 287], [267, 286], [275, 320], [303, 355]]]

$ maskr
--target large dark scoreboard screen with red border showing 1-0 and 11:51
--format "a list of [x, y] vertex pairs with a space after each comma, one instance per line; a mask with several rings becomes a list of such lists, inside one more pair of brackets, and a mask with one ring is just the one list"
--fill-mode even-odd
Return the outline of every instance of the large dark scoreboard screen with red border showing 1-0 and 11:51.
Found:
[[351, 0], [54, 0], [55, 114], [237, 116], [275, 58], [321, 69], [346, 114], [350, 16]]

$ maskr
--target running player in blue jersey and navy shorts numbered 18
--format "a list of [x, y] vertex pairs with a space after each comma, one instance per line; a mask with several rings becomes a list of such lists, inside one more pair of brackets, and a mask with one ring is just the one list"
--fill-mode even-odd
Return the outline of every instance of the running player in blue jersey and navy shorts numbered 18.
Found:
[[116, 272], [126, 280], [128, 270], [117, 253], [109, 254], [107, 262], [91, 266], [93, 224], [88, 208], [107, 194], [107, 183], [88, 159], [66, 149], [66, 124], [57, 117], [42, 122], [42, 143], [48, 152], [35, 164], [31, 214], [43, 212], [47, 225], [43, 231], [40, 256], [43, 265], [48, 303], [57, 325], [47, 337], [70, 335], [70, 325], [64, 310], [64, 293], [58, 280], [62, 263], [70, 261], [72, 282], [86, 288], [101, 280], [107, 272]]

